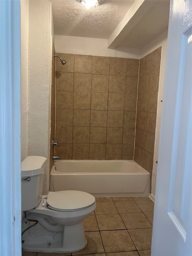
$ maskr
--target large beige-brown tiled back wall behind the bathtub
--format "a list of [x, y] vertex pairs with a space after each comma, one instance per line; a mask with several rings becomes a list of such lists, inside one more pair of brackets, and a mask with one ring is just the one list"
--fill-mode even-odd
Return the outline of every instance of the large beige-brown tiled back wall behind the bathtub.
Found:
[[58, 55], [55, 154], [133, 159], [139, 60]]

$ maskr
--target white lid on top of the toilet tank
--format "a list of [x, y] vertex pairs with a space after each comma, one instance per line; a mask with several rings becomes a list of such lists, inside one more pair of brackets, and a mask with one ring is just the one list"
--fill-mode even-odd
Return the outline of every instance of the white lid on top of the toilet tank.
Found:
[[28, 156], [21, 162], [21, 177], [34, 176], [42, 172], [47, 162], [43, 156]]

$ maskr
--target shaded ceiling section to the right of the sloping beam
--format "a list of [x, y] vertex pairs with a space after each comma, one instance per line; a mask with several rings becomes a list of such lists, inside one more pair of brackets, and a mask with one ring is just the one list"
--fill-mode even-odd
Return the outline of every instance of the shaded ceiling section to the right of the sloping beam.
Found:
[[169, 25], [170, 1], [158, 0], [118, 46], [142, 48]]

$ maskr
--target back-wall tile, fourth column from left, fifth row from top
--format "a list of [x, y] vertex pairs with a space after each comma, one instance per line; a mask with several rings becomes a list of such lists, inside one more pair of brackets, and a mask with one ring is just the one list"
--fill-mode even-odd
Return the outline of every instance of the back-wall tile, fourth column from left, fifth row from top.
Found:
[[107, 127], [107, 143], [121, 144], [122, 143], [123, 128]]

